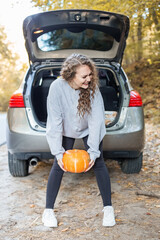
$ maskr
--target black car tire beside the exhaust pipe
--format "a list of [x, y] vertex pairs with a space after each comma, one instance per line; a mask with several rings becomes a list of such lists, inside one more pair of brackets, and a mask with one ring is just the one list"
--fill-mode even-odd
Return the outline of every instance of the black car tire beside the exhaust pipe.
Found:
[[14, 154], [8, 152], [8, 166], [10, 174], [13, 177], [25, 177], [28, 175], [29, 162], [27, 160], [18, 160]]

